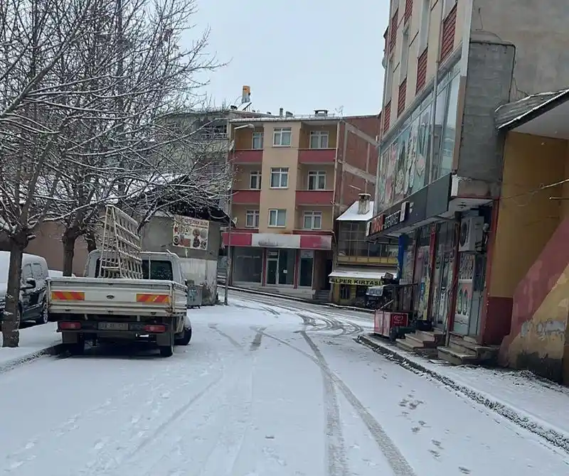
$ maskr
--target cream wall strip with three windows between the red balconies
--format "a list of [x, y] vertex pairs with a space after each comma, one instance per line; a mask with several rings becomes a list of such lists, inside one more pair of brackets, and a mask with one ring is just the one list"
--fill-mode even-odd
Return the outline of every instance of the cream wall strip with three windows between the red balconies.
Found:
[[[300, 136], [300, 122], [270, 121], [264, 124], [265, 142], [262, 153], [262, 182], [260, 198], [259, 231], [264, 233], [292, 232], [295, 226], [294, 202], [296, 199], [298, 144]], [[275, 128], [290, 127], [292, 138], [290, 147], [275, 147], [272, 145], [272, 136]], [[271, 168], [288, 167], [288, 188], [270, 188]], [[287, 210], [287, 225], [284, 228], [269, 227], [269, 210]]]

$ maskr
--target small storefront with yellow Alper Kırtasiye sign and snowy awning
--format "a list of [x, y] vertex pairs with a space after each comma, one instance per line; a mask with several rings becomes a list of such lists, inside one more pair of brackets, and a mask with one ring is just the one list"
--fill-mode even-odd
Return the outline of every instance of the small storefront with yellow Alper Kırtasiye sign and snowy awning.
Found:
[[329, 275], [332, 285], [332, 302], [339, 305], [366, 305], [366, 292], [371, 286], [381, 286], [385, 275], [393, 276], [393, 270], [339, 267]]

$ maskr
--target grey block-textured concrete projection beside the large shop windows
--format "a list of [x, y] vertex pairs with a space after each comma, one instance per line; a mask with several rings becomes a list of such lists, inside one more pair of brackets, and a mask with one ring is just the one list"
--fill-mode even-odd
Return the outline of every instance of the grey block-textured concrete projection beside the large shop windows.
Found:
[[468, 64], [457, 174], [495, 183], [503, 168], [503, 139], [494, 125], [494, 111], [509, 100], [514, 47], [473, 41]]

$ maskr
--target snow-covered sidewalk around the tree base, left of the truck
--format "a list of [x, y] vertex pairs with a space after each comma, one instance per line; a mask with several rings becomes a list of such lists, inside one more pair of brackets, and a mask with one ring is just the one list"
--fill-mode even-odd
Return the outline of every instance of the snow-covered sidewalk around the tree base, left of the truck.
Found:
[[[61, 336], [55, 330], [57, 323], [34, 325], [20, 329], [20, 346], [16, 348], [0, 347], [0, 372], [6, 372], [23, 362], [51, 354], [61, 344]], [[0, 343], [1, 343], [0, 337]]]

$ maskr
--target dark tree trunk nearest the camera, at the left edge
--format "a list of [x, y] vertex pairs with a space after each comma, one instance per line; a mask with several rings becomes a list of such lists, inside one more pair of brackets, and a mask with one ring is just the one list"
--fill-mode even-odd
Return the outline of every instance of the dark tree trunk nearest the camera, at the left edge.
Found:
[[23, 250], [28, 244], [28, 232], [20, 231], [10, 237], [10, 265], [6, 286], [6, 308], [2, 320], [2, 347], [18, 347], [20, 343], [20, 288]]

